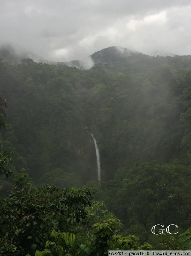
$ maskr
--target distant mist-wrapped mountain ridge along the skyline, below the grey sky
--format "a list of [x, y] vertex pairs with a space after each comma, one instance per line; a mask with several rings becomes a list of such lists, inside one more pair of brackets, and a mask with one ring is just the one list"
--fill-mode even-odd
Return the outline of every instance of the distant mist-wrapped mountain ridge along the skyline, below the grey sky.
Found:
[[[160, 61], [155, 61], [155, 56], [160, 57]], [[166, 56], [166, 58], [161, 57]], [[176, 61], [172, 57], [176, 57]], [[123, 69], [123, 65], [130, 64], [134, 62], [141, 64], [141, 67], [145, 66], [148, 69], [148, 66], [153, 67], [153, 65], [164, 65], [164, 64], [173, 64], [175, 68], [187, 68], [190, 67], [191, 55], [179, 56], [171, 52], [165, 51], [155, 51], [151, 56], [143, 54], [142, 52], [133, 51], [131, 49], [123, 47], [107, 47], [100, 51], [94, 52], [92, 55], [87, 56], [83, 60], [71, 60], [68, 62], [56, 62], [52, 60], [46, 60], [42, 56], [28, 52], [26, 49], [20, 47], [14, 47], [12, 45], [3, 45], [0, 47], [0, 58], [3, 58], [4, 61], [10, 64], [21, 64], [23, 58], [32, 58], [34, 62], [42, 62], [54, 65], [64, 65], [68, 67], [77, 67], [81, 70], [87, 70], [94, 66], [94, 64], [103, 63], [107, 64], [110, 67], [120, 66], [120, 69]], [[139, 66], [138, 64], [138, 66]]]

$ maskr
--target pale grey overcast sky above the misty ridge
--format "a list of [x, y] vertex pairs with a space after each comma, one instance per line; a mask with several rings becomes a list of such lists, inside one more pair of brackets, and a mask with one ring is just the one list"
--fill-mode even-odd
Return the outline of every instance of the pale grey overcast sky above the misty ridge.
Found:
[[191, 55], [190, 0], [0, 0], [0, 44], [52, 61], [109, 46]]

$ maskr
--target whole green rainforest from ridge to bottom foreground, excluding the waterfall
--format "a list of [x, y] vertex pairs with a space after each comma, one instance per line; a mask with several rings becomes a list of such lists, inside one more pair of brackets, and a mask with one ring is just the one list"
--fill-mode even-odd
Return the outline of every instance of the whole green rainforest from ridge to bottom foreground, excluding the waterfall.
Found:
[[[0, 61], [2, 255], [189, 247], [177, 236], [191, 224], [191, 56], [110, 47], [92, 59], [89, 70]], [[158, 223], [178, 235], [152, 235]]]

